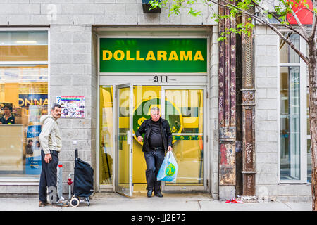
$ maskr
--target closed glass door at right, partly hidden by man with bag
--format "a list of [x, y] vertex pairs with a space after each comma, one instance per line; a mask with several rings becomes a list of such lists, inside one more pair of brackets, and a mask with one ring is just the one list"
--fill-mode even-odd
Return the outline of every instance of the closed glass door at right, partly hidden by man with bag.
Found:
[[[176, 183], [165, 182], [163, 191], [206, 190], [206, 90], [201, 87], [162, 87], [162, 117], [170, 123], [173, 153], [178, 162]], [[164, 101], [163, 101], [164, 100]]]

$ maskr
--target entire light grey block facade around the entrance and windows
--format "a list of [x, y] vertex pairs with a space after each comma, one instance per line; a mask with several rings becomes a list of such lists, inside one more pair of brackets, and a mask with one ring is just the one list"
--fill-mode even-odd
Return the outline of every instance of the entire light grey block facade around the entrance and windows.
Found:
[[[49, 27], [49, 101], [56, 96], [85, 96], [85, 119], [59, 120], [63, 136], [63, 181], [73, 172], [75, 148], [79, 158], [96, 170], [97, 37], [92, 25], [111, 27], [213, 27], [209, 65], [209, 181], [219, 198], [218, 25], [211, 8], [199, 4], [201, 16], [187, 11], [168, 17], [146, 14], [141, 0], [0, 0], [1, 27]], [[278, 37], [265, 27], [255, 30], [256, 196], [281, 200], [310, 200], [310, 186], [278, 184]], [[75, 144], [74, 141], [77, 141]], [[34, 193], [36, 179], [0, 179], [0, 193]], [[223, 187], [225, 188], [225, 187]], [[68, 192], [68, 185], [63, 184]], [[231, 189], [230, 189], [231, 190]]]

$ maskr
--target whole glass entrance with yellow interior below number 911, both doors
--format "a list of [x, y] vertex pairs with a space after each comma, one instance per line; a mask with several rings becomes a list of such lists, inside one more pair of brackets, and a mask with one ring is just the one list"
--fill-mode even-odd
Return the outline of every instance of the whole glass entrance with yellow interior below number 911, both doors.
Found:
[[133, 192], [146, 193], [143, 143], [133, 134], [150, 118], [150, 108], [156, 106], [170, 123], [173, 153], [179, 165], [176, 183], [162, 182], [162, 190], [207, 191], [206, 102], [205, 86], [101, 86], [99, 182], [102, 188], [114, 188], [127, 196]]

